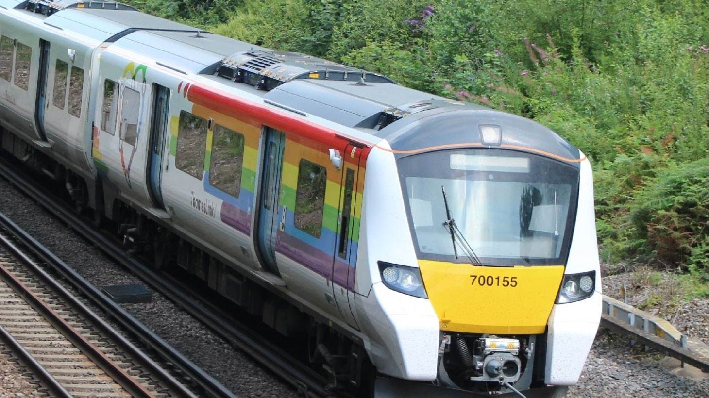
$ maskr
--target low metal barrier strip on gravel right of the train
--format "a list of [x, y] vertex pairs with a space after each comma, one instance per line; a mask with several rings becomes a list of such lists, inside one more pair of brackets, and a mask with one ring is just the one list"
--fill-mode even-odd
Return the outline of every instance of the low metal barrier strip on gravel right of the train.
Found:
[[672, 324], [641, 309], [603, 295], [601, 325], [625, 334], [655, 350], [688, 363], [707, 373], [709, 363], [706, 344], [688, 339]]

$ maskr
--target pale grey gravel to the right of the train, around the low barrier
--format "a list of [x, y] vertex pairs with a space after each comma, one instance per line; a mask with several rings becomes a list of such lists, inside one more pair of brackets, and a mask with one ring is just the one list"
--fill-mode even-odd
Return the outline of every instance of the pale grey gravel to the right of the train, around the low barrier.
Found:
[[[666, 319], [681, 333], [707, 343], [708, 305], [706, 299], [677, 300], [679, 279], [670, 273], [652, 270], [627, 272], [603, 278], [603, 294]], [[648, 302], [652, 305], [648, 305]], [[569, 389], [569, 397], [707, 397], [707, 374], [683, 377], [664, 365], [672, 362], [630, 339], [601, 328], [588, 354], [579, 383]], [[688, 367], [689, 368], [689, 367]], [[698, 377], [697, 377], [698, 376]]]

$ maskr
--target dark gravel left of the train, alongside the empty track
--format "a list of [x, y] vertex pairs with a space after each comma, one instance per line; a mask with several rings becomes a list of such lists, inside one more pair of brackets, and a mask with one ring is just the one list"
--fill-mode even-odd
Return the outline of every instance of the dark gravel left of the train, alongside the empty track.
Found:
[[[96, 286], [140, 283], [134, 275], [117, 266], [102, 251], [78, 237], [73, 229], [43, 210], [0, 178], [0, 212], [11, 218], [35, 239], [72, 266]], [[288, 384], [262, 367], [238, 348], [214, 334], [162, 295], [154, 292], [152, 302], [123, 305], [162, 339], [206, 370], [229, 390], [242, 397], [296, 397]], [[5, 371], [4, 375], [17, 372]], [[21, 382], [18, 380], [18, 382]], [[28, 391], [31, 391], [30, 389]], [[23, 390], [13, 390], [23, 391]], [[31, 395], [31, 394], [30, 394]], [[11, 397], [0, 390], [0, 396]]]

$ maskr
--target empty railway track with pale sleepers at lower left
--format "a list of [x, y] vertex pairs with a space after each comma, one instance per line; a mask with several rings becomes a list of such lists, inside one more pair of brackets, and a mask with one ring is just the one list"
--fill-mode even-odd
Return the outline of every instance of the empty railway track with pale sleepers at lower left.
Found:
[[191, 395], [138, 348], [116, 339], [22, 246], [0, 228], [0, 334], [52, 396]]

